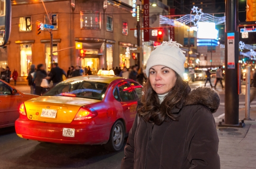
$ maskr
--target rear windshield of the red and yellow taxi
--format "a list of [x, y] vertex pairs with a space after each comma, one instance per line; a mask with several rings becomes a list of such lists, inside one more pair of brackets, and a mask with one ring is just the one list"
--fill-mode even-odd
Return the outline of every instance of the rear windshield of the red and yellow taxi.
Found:
[[87, 99], [102, 100], [108, 84], [90, 81], [66, 81], [57, 84], [44, 96], [69, 96]]

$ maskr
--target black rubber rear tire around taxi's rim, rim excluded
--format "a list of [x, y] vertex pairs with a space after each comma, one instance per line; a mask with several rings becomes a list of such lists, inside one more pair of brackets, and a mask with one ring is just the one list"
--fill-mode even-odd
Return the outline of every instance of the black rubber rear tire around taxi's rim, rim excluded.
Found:
[[[116, 146], [116, 145], [114, 144], [114, 140], [113, 140], [114, 131], [115, 131], [115, 128], [116, 128], [117, 126], [120, 127], [120, 130], [122, 131], [122, 136], [121, 136], [121, 140], [120, 140], [120, 143], [121, 143], [121, 144], [120, 144], [119, 146]], [[117, 152], [117, 151], [121, 150], [122, 147], [123, 147], [123, 144], [124, 144], [124, 137], [125, 137], [124, 124], [123, 124], [120, 120], [118, 120], [118, 121], [116, 121], [116, 122], [114, 123], [114, 125], [113, 125], [112, 128], [111, 128], [111, 131], [110, 131], [110, 139], [109, 139], [109, 141], [108, 141], [107, 144], [104, 144], [105, 149], [106, 149], [107, 151], [109, 151], [109, 152]]]

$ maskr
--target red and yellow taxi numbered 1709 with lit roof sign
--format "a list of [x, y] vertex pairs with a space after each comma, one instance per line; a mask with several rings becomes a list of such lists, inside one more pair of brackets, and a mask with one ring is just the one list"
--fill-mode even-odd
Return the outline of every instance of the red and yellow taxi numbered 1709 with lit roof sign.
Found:
[[40, 142], [105, 144], [107, 150], [119, 151], [136, 116], [142, 86], [99, 72], [64, 80], [21, 104], [17, 135]]

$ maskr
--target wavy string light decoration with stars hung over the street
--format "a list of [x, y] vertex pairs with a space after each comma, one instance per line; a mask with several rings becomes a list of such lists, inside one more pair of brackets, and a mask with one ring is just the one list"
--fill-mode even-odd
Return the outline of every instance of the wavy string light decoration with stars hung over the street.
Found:
[[184, 15], [183, 17], [180, 17], [178, 19], [169, 19], [167, 17], [164, 17], [160, 15], [160, 24], [168, 24], [173, 25], [176, 27], [180, 27], [184, 25], [187, 25], [188, 23], [192, 22], [195, 26], [198, 27], [199, 22], [213, 22], [215, 25], [222, 24], [226, 22], [226, 17], [214, 17], [210, 14], [205, 14], [202, 12], [201, 9], [198, 9], [198, 7], [193, 6], [191, 9], [193, 13], [196, 13], [195, 15], [188, 14]]

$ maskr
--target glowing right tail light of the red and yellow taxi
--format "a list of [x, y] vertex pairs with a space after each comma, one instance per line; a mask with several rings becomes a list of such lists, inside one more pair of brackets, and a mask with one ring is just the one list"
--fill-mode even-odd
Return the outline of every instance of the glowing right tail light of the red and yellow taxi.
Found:
[[75, 115], [74, 120], [86, 120], [98, 115], [97, 111], [92, 108], [81, 107]]

